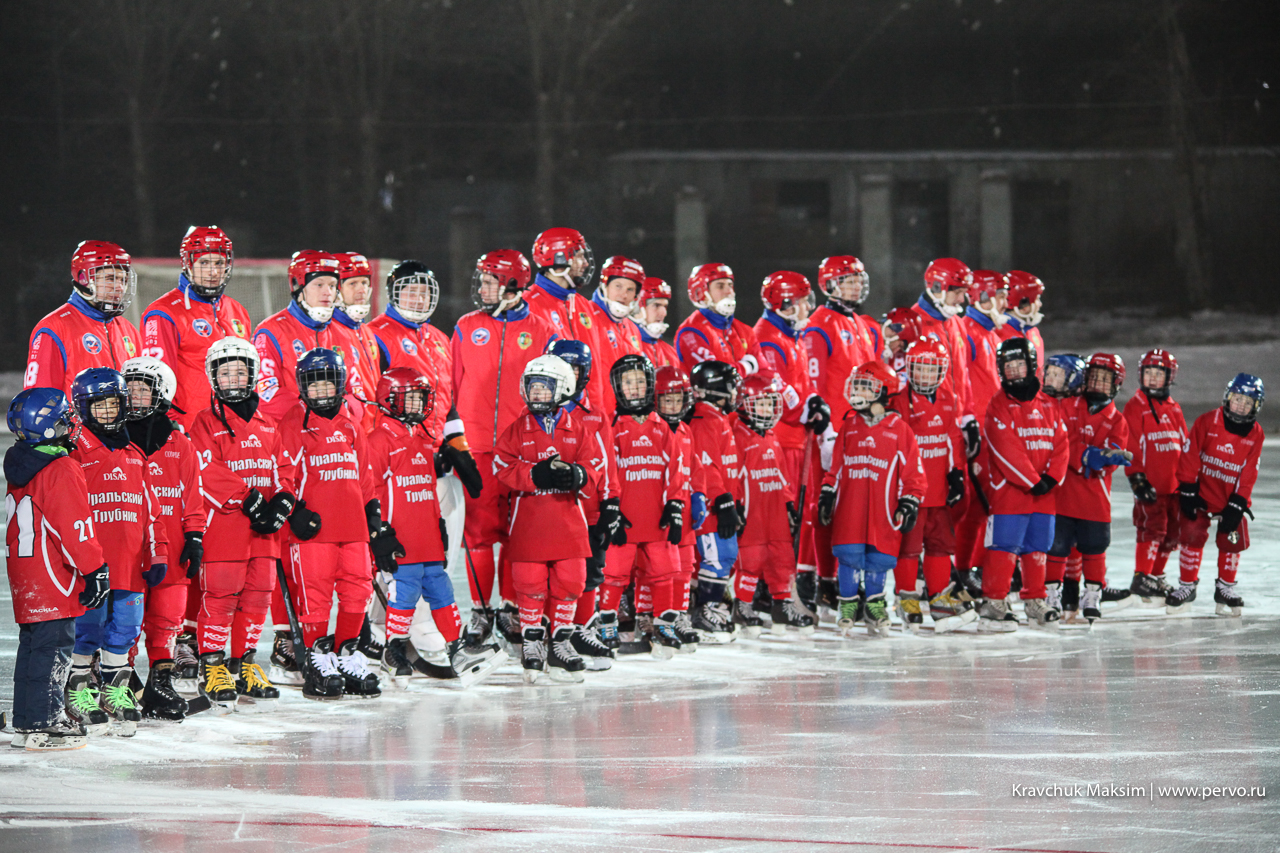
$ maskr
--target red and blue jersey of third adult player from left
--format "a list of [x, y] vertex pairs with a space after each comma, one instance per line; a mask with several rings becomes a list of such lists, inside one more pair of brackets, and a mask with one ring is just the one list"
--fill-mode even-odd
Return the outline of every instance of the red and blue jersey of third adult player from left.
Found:
[[[316, 323], [293, 300], [288, 307], [262, 320], [253, 330], [253, 346], [262, 362], [259, 369], [259, 410], [274, 420], [284, 418], [298, 402], [298, 359], [316, 347], [340, 347], [346, 333], [333, 323]], [[351, 371], [347, 371], [351, 384]]]

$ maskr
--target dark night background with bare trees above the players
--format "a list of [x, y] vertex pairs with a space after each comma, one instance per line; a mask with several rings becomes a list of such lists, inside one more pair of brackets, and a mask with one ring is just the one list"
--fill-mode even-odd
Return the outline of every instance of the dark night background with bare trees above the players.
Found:
[[[77, 242], [174, 256], [192, 223], [224, 227], [238, 257], [422, 257], [458, 296], [461, 206], [484, 248], [566, 224], [598, 259], [682, 284], [671, 234], [634, 228], [618, 197], [609, 158], [643, 150], [1164, 151], [1151, 214], [1171, 224], [1108, 250], [1133, 269], [1100, 307], [1280, 310], [1272, 0], [42, 0], [4, 17], [0, 369], [65, 298]], [[1213, 151], [1243, 164], [1234, 183]], [[1015, 190], [1015, 216], [1041, 184]], [[822, 197], [785, 197], [806, 186]], [[751, 205], [826, 222], [823, 186], [753, 184]], [[899, 181], [895, 204], [927, 207], [937, 186]], [[712, 207], [716, 260], [768, 272], [733, 218], [759, 210]], [[1015, 265], [1036, 242], [1019, 227]], [[841, 240], [791, 255], [860, 251]], [[1080, 307], [1064, 298], [1080, 277], [1044, 278], [1051, 307]]]

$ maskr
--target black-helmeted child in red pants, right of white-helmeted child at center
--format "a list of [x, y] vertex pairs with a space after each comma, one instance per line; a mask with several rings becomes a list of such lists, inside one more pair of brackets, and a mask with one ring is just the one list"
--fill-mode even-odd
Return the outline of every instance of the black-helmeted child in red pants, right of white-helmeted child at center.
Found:
[[[654, 412], [653, 362], [643, 355], [625, 355], [613, 364], [609, 384], [617, 401], [612, 450], [618, 462], [620, 508], [628, 524], [605, 555], [600, 625], [617, 624], [618, 601], [634, 579], [637, 589], [645, 585], [652, 594], [653, 656], [667, 660], [681, 646], [676, 634], [678, 547], [689, 502], [681, 442]], [[637, 606], [636, 619], [644, 615]]]

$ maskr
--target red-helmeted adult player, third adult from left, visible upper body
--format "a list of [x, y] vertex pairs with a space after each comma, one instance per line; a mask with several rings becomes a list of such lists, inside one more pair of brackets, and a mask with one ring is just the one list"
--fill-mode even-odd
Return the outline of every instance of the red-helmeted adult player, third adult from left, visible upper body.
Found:
[[257, 380], [262, 414], [280, 420], [298, 402], [296, 366], [303, 352], [340, 347], [347, 334], [333, 325], [338, 304], [338, 259], [305, 250], [289, 261], [289, 304], [259, 323], [253, 346], [261, 360]]

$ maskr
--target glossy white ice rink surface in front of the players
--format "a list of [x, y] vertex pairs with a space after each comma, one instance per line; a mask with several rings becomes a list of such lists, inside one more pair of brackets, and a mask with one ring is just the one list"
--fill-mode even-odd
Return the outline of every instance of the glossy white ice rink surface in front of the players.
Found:
[[[1108, 579], [1126, 585], [1123, 479], [1115, 494]], [[509, 665], [374, 702], [285, 689], [274, 711], [70, 753], [0, 735], [0, 850], [1275, 850], [1280, 444], [1254, 511], [1243, 619], [1213, 616], [1210, 546], [1190, 616], [881, 640], [828, 622], [581, 685]]]

